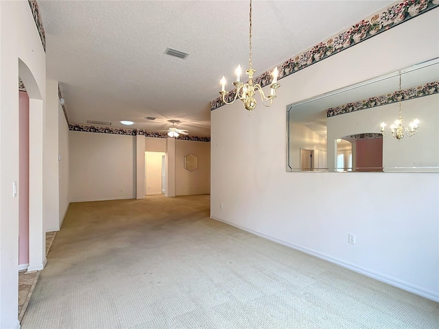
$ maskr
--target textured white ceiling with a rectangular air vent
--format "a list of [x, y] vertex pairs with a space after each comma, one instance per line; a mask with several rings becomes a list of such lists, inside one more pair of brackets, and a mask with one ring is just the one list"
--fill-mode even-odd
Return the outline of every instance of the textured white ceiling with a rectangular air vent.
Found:
[[[254, 69], [272, 69], [392, 2], [254, 1]], [[154, 132], [178, 119], [192, 136], [210, 136], [219, 80], [226, 75], [230, 89], [237, 64], [248, 66], [248, 1], [38, 4], [47, 77], [60, 82], [71, 123], [130, 120]], [[167, 56], [167, 47], [190, 55]]]

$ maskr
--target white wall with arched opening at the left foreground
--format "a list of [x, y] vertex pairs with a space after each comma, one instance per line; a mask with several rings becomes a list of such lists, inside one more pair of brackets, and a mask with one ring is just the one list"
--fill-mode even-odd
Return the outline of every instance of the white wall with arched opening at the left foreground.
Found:
[[[45, 52], [27, 1], [0, 1], [0, 328], [19, 328], [19, 75], [29, 95], [29, 267], [43, 268], [43, 110]], [[19, 61], [21, 60], [21, 62]], [[35, 174], [39, 171], [39, 176]]]

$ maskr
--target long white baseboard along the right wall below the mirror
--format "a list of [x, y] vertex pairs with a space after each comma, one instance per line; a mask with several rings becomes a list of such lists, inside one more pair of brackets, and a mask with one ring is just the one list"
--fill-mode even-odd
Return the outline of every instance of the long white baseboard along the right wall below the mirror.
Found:
[[434, 300], [434, 302], [439, 302], [439, 293], [436, 293], [434, 291], [428, 291], [421, 287], [418, 287], [414, 284], [410, 284], [408, 282], [405, 282], [403, 280], [399, 280], [396, 278], [392, 278], [390, 276], [386, 276], [383, 273], [379, 273], [376, 271], [371, 271], [370, 269], [366, 269], [365, 267], [360, 267], [358, 265], [346, 262], [344, 260], [329, 256], [327, 254], [323, 254], [321, 252], [316, 252], [313, 249], [309, 249], [307, 247], [302, 247], [301, 245], [295, 245], [294, 243], [289, 243], [287, 241], [283, 241], [281, 239], [276, 239], [272, 236], [269, 236], [267, 234], [263, 234], [261, 232], [258, 232], [256, 230], [252, 230], [250, 228], [246, 228], [244, 226], [240, 226], [235, 223], [231, 223], [230, 221], [226, 221], [224, 219], [219, 219], [217, 217], [211, 216], [211, 219], [215, 219], [215, 221], [222, 221], [223, 223], [226, 223], [230, 226], [235, 226], [235, 228], [239, 228], [241, 230], [244, 230], [246, 232], [250, 232], [254, 235], [260, 236], [261, 238], [273, 241], [274, 243], [279, 243], [281, 245], [285, 245], [287, 247], [290, 247], [292, 249], [299, 250], [300, 252], [305, 252], [305, 254], [309, 254], [311, 256], [315, 256], [317, 258], [327, 260], [329, 263], [333, 263], [335, 265], [339, 265], [341, 267], [344, 267], [346, 269], [350, 269], [351, 271], [355, 271], [357, 273], [363, 274], [364, 276], [368, 276], [369, 278], [373, 278], [375, 280], [390, 284], [394, 287], [398, 287], [400, 289], [403, 289], [405, 291], [409, 291], [410, 293], [415, 293], [416, 295], [420, 295], [422, 297], [428, 298], [429, 300]]

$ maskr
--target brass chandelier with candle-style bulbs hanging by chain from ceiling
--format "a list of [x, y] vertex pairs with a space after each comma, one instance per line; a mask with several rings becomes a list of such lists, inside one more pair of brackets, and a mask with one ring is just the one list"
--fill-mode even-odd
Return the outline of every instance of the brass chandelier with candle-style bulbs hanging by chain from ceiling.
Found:
[[[253, 74], [256, 72], [255, 69], [252, 67], [252, 0], [250, 0], [250, 15], [249, 15], [249, 21], [250, 21], [250, 28], [249, 34], [248, 34], [248, 49], [249, 49], [249, 59], [248, 62], [250, 64], [249, 69], [246, 71], [248, 74], [248, 82], [244, 83], [239, 81], [241, 78], [241, 65], [238, 65], [235, 73], [237, 75], [237, 79], [233, 84], [236, 87], [235, 91], [235, 97], [233, 98], [233, 101], [227, 102], [226, 101], [226, 78], [223, 76], [221, 80], [222, 89], [219, 92], [222, 95], [222, 101], [226, 104], [234, 103], [238, 98], [243, 101], [244, 108], [249, 111], [249, 114], [252, 113], [252, 110], [256, 108], [256, 99], [254, 99], [254, 94], [259, 91], [259, 95], [261, 96], [261, 100], [264, 106], [268, 107], [271, 106], [273, 103], [274, 97], [276, 97], [276, 89], [281, 86], [277, 83], [277, 75], [278, 75], [278, 69], [277, 66], [274, 68], [272, 72], [273, 80], [272, 84], [270, 85], [271, 92], [270, 95], [265, 96], [263, 93], [262, 87], [260, 84], [253, 84]], [[269, 101], [268, 103], [265, 103], [265, 101]]]

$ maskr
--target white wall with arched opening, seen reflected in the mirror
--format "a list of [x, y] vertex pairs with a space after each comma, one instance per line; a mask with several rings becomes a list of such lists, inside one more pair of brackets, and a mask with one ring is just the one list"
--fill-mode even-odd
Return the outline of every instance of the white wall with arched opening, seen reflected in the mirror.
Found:
[[[401, 103], [403, 124], [408, 125], [415, 118], [420, 120], [418, 134], [403, 138], [385, 136], [383, 139], [384, 171], [409, 171], [410, 167], [439, 166], [439, 95], [429, 95], [410, 99]], [[368, 108], [357, 112], [336, 115], [328, 118], [328, 140], [361, 134], [363, 132], [380, 132], [380, 123], [390, 125], [398, 119], [399, 104], [392, 103], [376, 108]], [[332, 157], [331, 157], [332, 155]], [[333, 163], [333, 154], [328, 154], [328, 162]], [[423, 164], [423, 165], [422, 165]], [[429, 164], [427, 166], [426, 164]], [[405, 167], [401, 169], [401, 167]], [[438, 171], [438, 169], [422, 169], [423, 171]]]

